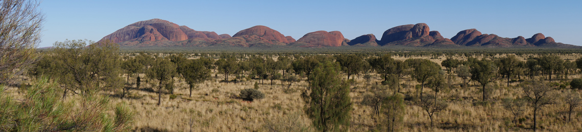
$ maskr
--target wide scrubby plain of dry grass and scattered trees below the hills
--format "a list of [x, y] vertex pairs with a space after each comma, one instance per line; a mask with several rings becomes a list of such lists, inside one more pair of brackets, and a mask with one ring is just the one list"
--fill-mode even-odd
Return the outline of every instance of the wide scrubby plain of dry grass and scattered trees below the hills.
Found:
[[[75, 41], [65, 43], [75, 43]], [[59, 70], [63, 69], [57, 70], [58, 72], [51, 71], [55, 70], [55, 66], [51, 64], [60, 61], [53, 62], [51, 59], [65, 53], [57, 52], [38, 61], [37, 66], [31, 70], [30, 77], [22, 77], [25, 80], [24, 84], [30, 82], [28, 80], [34, 80], [29, 78], [35, 78], [42, 73], [55, 74], [55, 76], [60, 74]], [[386, 56], [388, 54], [394, 55]], [[80, 56], [90, 56], [90, 54]], [[66, 98], [63, 101], [80, 100], [85, 97], [81, 92], [87, 91], [85, 93], [87, 95], [96, 93], [97, 96], [108, 97], [109, 104], [125, 104], [134, 113], [133, 122], [128, 123], [133, 131], [319, 131], [314, 126], [314, 119], [309, 118], [306, 113], [308, 107], [306, 94], [311, 91], [311, 80], [308, 77], [313, 74], [313, 69], [310, 67], [321, 65], [318, 64], [320, 62], [335, 62], [332, 64], [340, 67], [340, 65], [349, 64], [340, 62], [340, 57], [349, 56], [359, 57], [360, 61], [354, 62], [362, 64], [353, 67], [359, 68], [360, 71], [350, 72], [352, 73], [350, 79], [347, 79], [346, 74], [349, 71], [348, 67], [340, 70], [342, 72], [339, 79], [349, 83], [351, 109], [349, 109], [349, 125], [345, 126], [349, 128], [349, 131], [533, 131], [534, 115], [537, 119], [535, 126], [540, 131], [582, 130], [580, 124], [582, 111], [578, 107], [580, 101], [573, 102], [578, 105], [573, 105], [570, 116], [569, 106], [572, 101], [566, 100], [566, 97], [580, 100], [580, 89], [570, 86], [572, 79], [581, 78], [580, 70], [576, 69], [575, 65], [574, 67], [567, 65], [577, 63], [576, 60], [581, 57], [580, 54], [559, 54], [559, 56], [556, 54], [549, 56], [547, 54], [517, 56], [514, 54], [489, 54], [488, 56], [474, 54], [467, 57], [443, 54], [406, 56], [398, 53], [127, 53], [120, 56], [122, 62], [111, 61], [122, 65], [119, 71], [116, 71], [116, 75], [119, 75], [118, 79], [94, 78], [103, 81], [100, 84], [105, 85], [97, 85], [102, 88], [67, 88], [78, 86], [75, 85], [76, 83], [60, 85], [60, 87], [69, 90], [68, 93], [64, 91], [63, 97]], [[500, 68], [495, 65], [499, 65], [499, 60], [510, 58], [510, 56], [521, 63], [517, 67], [520, 69], [510, 74], [510, 82], [507, 86], [508, 79], [498, 71]], [[545, 62], [551, 60], [552, 57], [558, 57], [557, 60], [552, 61], [560, 62], [560, 65], [563, 63], [563, 65], [551, 69], [555, 72], [548, 74], [544, 72], [544, 64], [537, 62]], [[164, 68], [155, 67], [162, 67], [158, 65], [162, 60], [170, 65], [163, 67], [175, 68], [171, 70], [172, 73], [168, 75], [158, 73]], [[441, 66], [445, 60], [456, 60], [457, 65], [448, 72], [448, 67]], [[530, 72], [526, 64], [534, 60], [536, 63], [532, 68], [537, 71]], [[572, 63], [565, 63], [564, 60], [572, 61]], [[279, 62], [282, 64], [279, 65]], [[390, 63], [378, 66], [382, 62]], [[393, 69], [398, 69], [394, 65], [399, 65], [399, 63], [402, 63], [399, 66], [400, 71], [394, 71]], [[435, 64], [438, 64], [437, 69], [425, 68], [432, 70], [430, 72], [432, 74], [423, 84], [423, 79], [419, 78], [423, 73], [417, 69]], [[184, 74], [187, 73], [186, 68], [193, 65], [203, 65], [198, 68], [201, 68], [201, 71], [204, 71], [203, 69], [207, 71], [198, 73], [200, 75], [197, 72]], [[471, 79], [469, 76], [467, 83], [463, 84], [463, 79], [457, 75], [459, 65], [471, 65], [467, 67], [469, 69], [479, 68], [475, 65], [494, 67], [493, 71], [489, 71], [493, 73], [491, 78], [493, 81], [487, 82], [483, 89], [477, 79]], [[109, 66], [114, 67], [115, 64], [111, 63]], [[132, 71], [131, 67], [137, 68]], [[389, 68], [382, 69], [386, 67]], [[470, 75], [480, 74], [477, 71], [466, 72], [471, 72]], [[549, 75], [552, 79], [549, 79]], [[225, 80], [226, 78], [228, 81]], [[531, 103], [533, 100], [528, 100], [526, 96], [530, 94], [526, 94], [524, 90], [524, 88], [535, 86], [531, 85], [531, 80], [535, 80], [537, 82], [535, 84], [538, 85], [548, 84], [549, 94], [544, 97], [552, 99], [542, 98], [542, 101], [549, 100], [549, 102], [546, 105], [540, 105], [537, 114], [534, 114], [533, 110], [537, 105]], [[111, 81], [122, 81], [125, 85], [122, 86], [123, 88], [108, 87], [107, 84]], [[85, 83], [80, 82], [80, 84]], [[119, 83], [111, 84], [119, 85]], [[9, 87], [6, 91], [14, 98], [23, 98], [24, 93], [19, 89]], [[256, 89], [264, 96], [257, 94], [258, 96], [249, 98], [242, 97], [241, 91], [245, 89]], [[486, 93], [484, 94], [483, 91]], [[423, 96], [420, 96], [421, 93]], [[573, 96], [567, 96], [569, 94]], [[371, 97], [375, 97], [376, 102], [372, 100], [370, 104]], [[391, 101], [398, 102], [398, 100], [402, 100], [403, 105], [389, 104]], [[395, 107], [396, 105], [402, 106], [402, 109]], [[395, 109], [387, 111], [388, 108]], [[113, 111], [109, 110], [107, 113], [111, 114]]]

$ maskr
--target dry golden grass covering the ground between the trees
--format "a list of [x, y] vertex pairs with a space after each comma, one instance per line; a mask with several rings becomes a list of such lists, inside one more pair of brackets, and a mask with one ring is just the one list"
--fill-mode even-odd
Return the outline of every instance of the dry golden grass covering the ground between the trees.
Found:
[[[502, 57], [495, 56], [495, 57]], [[563, 59], [575, 60], [579, 56], [560, 56]], [[396, 60], [406, 60], [407, 57], [394, 57]], [[438, 58], [427, 58], [438, 64], [445, 60], [446, 56]], [[456, 57], [466, 60], [466, 57]], [[519, 57], [525, 61], [527, 57]], [[442, 69], [445, 69], [444, 67]], [[138, 131], [267, 131], [267, 122], [281, 122], [289, 116], [299, 115], [296, 120], [283, 120], [281, 123], [299, 122], [299, 126], [307, 128], [308, 131], [315, 131], [311, 126], [311, 120], [306, 118], [304, 113], [305, 103], [301, 98], [301, 91], [306, 90], [308, 83], [306, 78], [301, 78], [298, 83], [293, 83], [291, 92], [285, 92], [285, 82], [274, 80], [274, 85], [269, 85], [269, 80], [261, 83], [259, 79], [241, 79], [239, 82], [223, 82], [224, 76], [212, 74], [210, 80], [196, 85], [193, 94], [189, 97], [189, 91], [183, 79], [176, 79], [176, 90], [171, 94], [162, 94], [162, 104], [157, 104], [157, 89], [155, 85], [147, 84], [140, 89], [132, 89], [128, 98], [120, 99], [113, 96], [112, 102], [127, 102], [136, 114], [134, 128]], [[345, 75], [345, 74], [344, 74]], [[361, 101], [365, 94], [371, 94], [371, 87], [387, 87], [379, 84], [382, 81], [378, 74], [370, 73], [371, 79], [364, 79], [364, 74], [354, 75], [354, 82], [350, 85], [350, 96], [352, 97], [353, 111], [351, 112], [350, 131], [374, 131], [379, 125], [379, 118], [374, 114], [372, 107], [363, 105]], [[142, 77], [144, 75], [141, 75]], [[299, 75], [297, 75], [299, 76]], [[555, 75], [556, 76], [556, 75]], [[230, 76], [235, 78], [235, 76]], [[347, 76], [345, 76], [347, 77]], [[491, 89], [487, 101], [481, 100], [480, 85], [469, 82], [469, 86], [462, 87], [462, 79], [456, 75], [446, 76], [450, 78], [450, 86], [446, 86], [438, 93], [438, 97], [448, 104], [448, 107], [434, 115], [435, 131], [531, 131], [533, 124], [533, 111], [526, 107], [523, 115], [518, 117], [517, 127], [512, 119], [510, 111], [503, 108], [503, 98], [523, 98], [524, 93], [520, 85], [524, 82], [512, 82], [510, 86], [505, 86], [505, 79], [499, 78], [495, 82], [489, 83], [487, 89]], [[535, 76], [544, 78], [544, 76]], [[557, 76], [555, 78], [558, 78]], [[570, 75], [572, 78], [580, 78], [578, 74]], [[345, 78], [344, 78], [345, 79]], [[526, 76], [521, 79], [527, 80]], [[258, 82], [258, 90], [265, 94], [265, 98], [254, 101], [247, 101], [238, 98], [238, 94], [243, 89], [254, 88]], [[554, 79], [556, 84], [569, 83], [567, 79]], [[403, 113], [402, 126], [400, 131], [431, 131], [430, 120], [423, 109], [415, 105], [413, 96], [417, 92], [414, 86], [420, 85], [410, 75], [405, 76], [400, 82], [399, 93], [407, 96], [406, 107]], [[134, 83], [132, 87], [134, 87]], [[541, 109], [538, 116], [538, 130], [542, 131], [580, 131], [582, 125], [582, 112], [576, 108], [572, 115], [572, 121], [567, 122], [567, 106], [561, 96], [574, 92], [580, 93], [578, 89], [570, 87], [555, 88], [556, 95], [560, 99], [556, 104], [549, 105]], [[392, 92], [392, 89], [387, 89]], [[167, 91], [164, 91], [167, 92]], [[424, 89], [425, 93], [434, 92], [430, 88]], [[107, 95], [117, 95], [115, 92], [104, 93]], [[277, 124], [282, 125], [282, 124]]]

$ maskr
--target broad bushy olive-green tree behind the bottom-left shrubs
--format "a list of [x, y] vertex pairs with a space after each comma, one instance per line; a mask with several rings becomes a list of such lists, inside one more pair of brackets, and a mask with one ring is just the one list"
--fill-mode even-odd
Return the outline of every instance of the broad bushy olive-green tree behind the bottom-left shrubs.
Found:
[[[86, 46], [90, 44], [89, 46]], [[52, 78], [67, 91], [83, 96], [95, 91], [122, 87], [119, 45], [112, 42], [91, 41], [56, 42], [52, 54]]]

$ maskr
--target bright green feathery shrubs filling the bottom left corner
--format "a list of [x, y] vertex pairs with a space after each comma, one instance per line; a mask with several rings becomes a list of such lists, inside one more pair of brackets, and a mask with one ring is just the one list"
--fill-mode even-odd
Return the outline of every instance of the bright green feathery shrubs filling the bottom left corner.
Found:
[[109, 115], [107, 97], [83, 96], [75, 106], [76, 101], [62, 100], [62, 90], [46, 78], [24, 89], [22, 99], [0, 94], [0, 131], [129, 131], [132, 127], [133, 112], [117, 105], [115, 115]]

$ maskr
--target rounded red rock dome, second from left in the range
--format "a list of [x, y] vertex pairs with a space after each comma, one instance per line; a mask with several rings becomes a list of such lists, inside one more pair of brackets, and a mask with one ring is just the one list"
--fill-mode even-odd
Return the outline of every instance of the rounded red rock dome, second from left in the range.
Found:
[[257, 26], [239, 31], [235, 35], [233, 35], [232, 37], [244, 36], [244, 35], [249, 35], [249, 36], [257, 35], [257, 36], [265, 38], [269, 41], [279, 41], [282, 43], [289, 43], [287, 38], [285, 38], [285, 35], [279, 33], [279, 31], [273, 30], [273, 29], [271, 29], [269, 27], [265, 27], [263, 25], [257, 25]]

